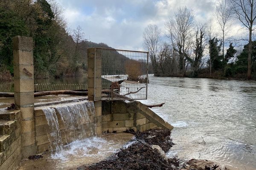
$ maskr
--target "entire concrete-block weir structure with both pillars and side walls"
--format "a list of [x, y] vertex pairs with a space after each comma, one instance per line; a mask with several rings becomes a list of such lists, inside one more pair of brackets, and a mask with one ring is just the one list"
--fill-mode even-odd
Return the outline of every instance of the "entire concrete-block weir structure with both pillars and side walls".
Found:
[[94, 48], [88, 49], [88, 96], [37, 104], [32, 38], [14, 37], [13, 49], [15, 110], [0, 112], [0, 170], [14, 170], [22, 159], [102, 132], [173, 128], [138, 101], [101, 101], [101, 69], [93, 64], [101, 58]]

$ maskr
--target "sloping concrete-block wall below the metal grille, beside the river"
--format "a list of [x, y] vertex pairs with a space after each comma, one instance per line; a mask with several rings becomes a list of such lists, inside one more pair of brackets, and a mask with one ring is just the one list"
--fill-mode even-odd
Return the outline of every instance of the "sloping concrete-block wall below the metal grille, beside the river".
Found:
[[126, 129], [143, 132], [154, 128], [173, 127], [141, 102], [102, 101], [102, 132]]

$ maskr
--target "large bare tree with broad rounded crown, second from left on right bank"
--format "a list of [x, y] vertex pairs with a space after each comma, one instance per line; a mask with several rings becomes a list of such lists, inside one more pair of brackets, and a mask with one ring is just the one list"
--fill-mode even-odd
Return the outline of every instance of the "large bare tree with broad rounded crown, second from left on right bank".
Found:
[[185, 75], [185, 64], [187, 59], [189, 37], [194, 28], [194, 12], [187, 7], [178, 8], [174, 15], [170, 15], [166, 20], [165, 26], [167, 37], [177, 46], [175, 51], [179, 53], [179, 68], [181, 76]]

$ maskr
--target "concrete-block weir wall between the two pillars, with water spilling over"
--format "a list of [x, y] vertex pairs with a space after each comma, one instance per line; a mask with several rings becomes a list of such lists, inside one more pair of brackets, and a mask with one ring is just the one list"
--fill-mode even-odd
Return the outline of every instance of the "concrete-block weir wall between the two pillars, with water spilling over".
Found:
[[87, 100], [35, 108], [37, 153], [61, 151], [75, 140], [96, 135], [94, 103]]

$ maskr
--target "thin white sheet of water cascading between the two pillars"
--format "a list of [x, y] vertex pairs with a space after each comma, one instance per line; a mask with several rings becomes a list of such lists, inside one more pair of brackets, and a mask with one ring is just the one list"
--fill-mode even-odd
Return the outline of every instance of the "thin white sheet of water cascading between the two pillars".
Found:
[[93, 102], [64, 103], [42, 110], [49, 125], [47, 136], [50, 147], [56, 153], [60, 153], [64, 145], [96, 135]]

